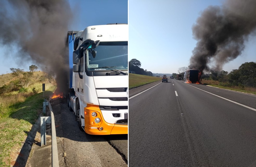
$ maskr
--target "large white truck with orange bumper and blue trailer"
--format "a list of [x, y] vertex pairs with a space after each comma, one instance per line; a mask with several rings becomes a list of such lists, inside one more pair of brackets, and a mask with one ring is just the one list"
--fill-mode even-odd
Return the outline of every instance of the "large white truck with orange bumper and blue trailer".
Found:
[[128, 25], [68, 31], [68, 107], [91, 135], [128, 133]]

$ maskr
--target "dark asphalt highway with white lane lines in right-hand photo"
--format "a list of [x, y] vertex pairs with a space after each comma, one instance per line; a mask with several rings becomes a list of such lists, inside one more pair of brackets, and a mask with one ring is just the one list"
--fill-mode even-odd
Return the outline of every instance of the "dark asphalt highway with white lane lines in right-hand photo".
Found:
[[255, 95], [175, 79], [132, 92], [129, 166], [256, 166]]

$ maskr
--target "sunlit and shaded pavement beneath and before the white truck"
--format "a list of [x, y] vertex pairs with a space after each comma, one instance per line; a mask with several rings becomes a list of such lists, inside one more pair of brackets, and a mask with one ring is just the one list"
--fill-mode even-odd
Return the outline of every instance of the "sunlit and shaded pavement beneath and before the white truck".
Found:
[[[51, 104], [55, 117], [59, 166], [127, 167], [128, 135], [88, 135], [79, 129], [75, 114], [69, 111], [66, 103], [53, 99]], [[50, 141], [42, 147], [33, 145], [28, 167], [52, 166]]]

